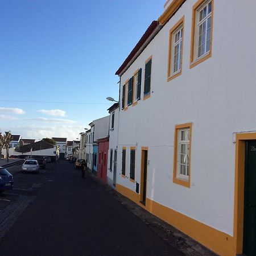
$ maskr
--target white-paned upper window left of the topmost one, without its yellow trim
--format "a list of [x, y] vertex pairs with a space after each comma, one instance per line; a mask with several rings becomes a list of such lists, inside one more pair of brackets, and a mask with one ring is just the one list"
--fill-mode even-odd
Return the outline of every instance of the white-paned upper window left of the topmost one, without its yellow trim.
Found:
[[172, 33], [171, 76], [181, 71], [183, 24]]

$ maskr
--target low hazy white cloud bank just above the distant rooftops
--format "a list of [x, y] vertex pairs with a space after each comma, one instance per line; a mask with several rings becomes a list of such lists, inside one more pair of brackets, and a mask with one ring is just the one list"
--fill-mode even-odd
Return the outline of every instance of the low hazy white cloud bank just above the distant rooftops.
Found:
[[[3, 130], [6, 128], [3, 127]], [[42, 139], [52, 137], [68, 138], [69, 141], [76, 138], [80, 138], [80, 133], [84, 131], [84, 126], [72, 126], [72, 125], [49, 125], [49, 126], [37, 126], [37, 125], [21, 125], [21, 126], [9, 126], [8, 130], [13, 134], [20, 134], [23, 138], [30, 139]]]

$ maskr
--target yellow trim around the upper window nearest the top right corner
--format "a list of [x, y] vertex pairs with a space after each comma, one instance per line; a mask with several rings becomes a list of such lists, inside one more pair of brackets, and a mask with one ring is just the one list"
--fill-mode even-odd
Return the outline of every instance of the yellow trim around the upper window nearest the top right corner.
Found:
[[204, 2], [207, 0], [198, 0], [195, 5], [193, 5], [192, 10], [192, 27], [191, 27], [191, 48], [190, 48], [190, 65], [189, 68], [193, 68], [196, 65], [202, 63], [203, 61], [209, 59], [209, 57], [212, 57], [212, 34], [213, 34], [213, 4], [214, 0], [212, 0], [212, 22], [210, 27], [210, 51], [203, 57], [201, 57], [198, 60], [194, 60], [194, 52], [195, 52], [195, 32], [196, 32], [196, 11], [199, 9], [201, 5], [203, 5]]

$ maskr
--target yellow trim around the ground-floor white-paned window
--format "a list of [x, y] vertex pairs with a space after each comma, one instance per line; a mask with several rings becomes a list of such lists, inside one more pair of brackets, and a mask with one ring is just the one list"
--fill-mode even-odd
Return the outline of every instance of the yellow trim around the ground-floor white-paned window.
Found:
[[[177, 133], [178, 130], [189, 128], [189, 175], [188, 180], [180, 179], [177, 177]], [[182, 185], [184, 187], [190, 188], [190, 177], [191, 177], [191, 134], [192, 134], [192, 123], [183, 123], [180, 125], [175, 125], [174, 130], [174, 168], [173, 168], [173, 183]]]

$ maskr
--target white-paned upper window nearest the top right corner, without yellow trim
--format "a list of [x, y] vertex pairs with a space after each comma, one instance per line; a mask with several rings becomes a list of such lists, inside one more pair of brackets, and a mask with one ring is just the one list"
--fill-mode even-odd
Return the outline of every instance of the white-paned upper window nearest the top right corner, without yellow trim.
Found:
[[210, 52], [211, 27], [212, 27], [212, 0], [205, 1], [196, 10], [195, 24], [195, 59]]

